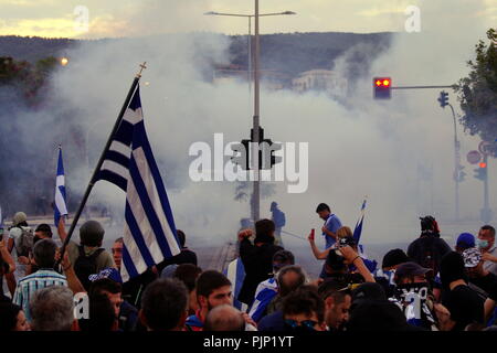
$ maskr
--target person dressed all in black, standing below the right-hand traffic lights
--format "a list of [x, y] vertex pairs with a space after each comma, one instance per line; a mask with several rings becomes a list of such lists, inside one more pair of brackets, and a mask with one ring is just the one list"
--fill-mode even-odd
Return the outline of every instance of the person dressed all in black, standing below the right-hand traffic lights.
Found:
[[438, 274], [442, 257], [451, 247], [440, 237], [440, 228], [432, 216], [421, 217], [421, 235], [408, 248], [408, 256], [421, 267], [431, 268], [430, 280]]

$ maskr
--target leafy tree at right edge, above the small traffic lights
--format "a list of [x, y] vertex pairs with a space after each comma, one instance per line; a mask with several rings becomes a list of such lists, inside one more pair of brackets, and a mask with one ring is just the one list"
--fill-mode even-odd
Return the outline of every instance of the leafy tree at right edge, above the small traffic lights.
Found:
[[491, 142], [491, 156], [497, 157], [497, 31], [487, 31], [489, 43], [476, 44], [476, 58], [468, 61], [467, 77], [461, 78], [456, 88], [464, 116], [465, 130]]

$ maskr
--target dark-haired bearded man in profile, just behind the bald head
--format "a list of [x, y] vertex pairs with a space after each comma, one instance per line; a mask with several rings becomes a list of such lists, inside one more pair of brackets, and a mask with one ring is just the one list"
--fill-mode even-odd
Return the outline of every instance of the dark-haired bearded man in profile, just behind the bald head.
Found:
[[233, 303], [230, 280], [215, 270], [204, 271], [197, 280], [197, 301], [199, 310], [187, 319], [187, 328], [202, 331], [210, 310], [221, 304]]

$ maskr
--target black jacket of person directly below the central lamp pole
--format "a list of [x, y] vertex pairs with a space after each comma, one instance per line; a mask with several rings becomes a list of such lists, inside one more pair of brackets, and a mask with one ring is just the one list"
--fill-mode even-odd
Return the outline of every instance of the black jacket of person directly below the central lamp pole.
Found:
[[258, 284], [268, 279], [273, 272], [273, 255], [283, 247], [268, 243], [253, 245], [248, 239], [240, 242], [240, 257], [245, 267], [245, 280], [239, 293], [239, 301], [250, 306], [254, 300]]

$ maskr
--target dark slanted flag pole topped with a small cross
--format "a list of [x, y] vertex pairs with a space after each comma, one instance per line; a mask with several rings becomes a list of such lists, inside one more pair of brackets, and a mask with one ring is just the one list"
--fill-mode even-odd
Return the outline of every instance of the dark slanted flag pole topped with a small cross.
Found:
[[136, 87], [138, 86], [138, 82], [140, 81], [140, 77], [141, 77], [141, 72], [145, 68], [147, 68], [146, 64], [147, 64], [147, 62], [145, 62], [145, 63], [142, 63], [140, 65], [140, 71], [138, 72], [138, 74], [135, 76], [135, 79], [133, 81], [131, 87], [129, 88], [128, 95], [126, 96], [126, 99], [125, 99], [125, 103], [123, 105], [123, 108], [120, 108], [120, 113], [119, 113], [119, 115], [118, 115], [118, 117], [116, 119], [116, 122], [114, 124], [114, 128], [113, 128], [113, 130], [110, 132], [110, 136], [107, 139], [107, 143], [105, 143], [105, 148], [104, 148], [104, 151], [101, 154], [101, 159], [98, 160], [98, 163], [95, 167], [95, 170], [93, 171], [92, 179], [89, 180], [88, 186], [86, 186], [86, 191], [85, 191], [85, 193], [83, 195], [83, 199], [82, 199], [82, 201], [80, 203], [80, 206], [77, 207], [77, 211], [74, 214], [74, 218], [73, 218], [73, 222], [71, 223], [71, 227], [68, 229], [67, 236], [65, 237], [64, 244], [62, 245], [62, 248], [61, 248], [61, 257], [57, 260], [57, 263], [55, 264], [55, 267], [64, 258], [65, 248], [67, 247], [67, 244], [71, 240], [71, 237], [72, 237], [72, 235], [74, 233], [74, 228], [76, 227], [77, 221], [80, 221], [80, 216], [83, 213], [83, 210], [85, 207], [86, 201], [88, 200], [89, 193], [92, 192], [92, 189], [95, 185], [95, 182], [96, 182], [95, 179], [98, 175], [98, 172], [101, 171], [102, 164], [104, 163], [105, 154], [107, 153], [107, 151], [108, 151], [108, 149], [110, 147], [110, 143], [113, 141], [113, 137], [116, 133], [117, 129], [119, 128], [120, 121], [123, 120], [123, 116], [124, 116], [126, 109], [129, 106], [129, 103], [130, 103], [130, 100], [133, 98], [133, 95], [134, 95], [134, 93], [136, 90]]

